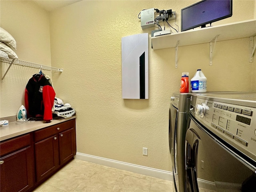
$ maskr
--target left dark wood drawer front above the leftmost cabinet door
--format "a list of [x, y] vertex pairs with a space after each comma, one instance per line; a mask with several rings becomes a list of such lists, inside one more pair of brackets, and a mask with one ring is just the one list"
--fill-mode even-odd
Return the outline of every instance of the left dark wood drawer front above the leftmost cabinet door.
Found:
[[30, 146], [30, 134], [26, 134], [8, 141], [0, 143], [0, 156], [17, 151], [26, 146]]

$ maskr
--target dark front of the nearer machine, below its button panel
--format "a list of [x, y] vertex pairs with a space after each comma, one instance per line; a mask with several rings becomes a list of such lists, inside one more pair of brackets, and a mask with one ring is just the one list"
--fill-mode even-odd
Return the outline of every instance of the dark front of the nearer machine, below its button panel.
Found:
[[186, 192], [253, 192], [256, 174], [223, 141], [190, 116], [186, 132]]

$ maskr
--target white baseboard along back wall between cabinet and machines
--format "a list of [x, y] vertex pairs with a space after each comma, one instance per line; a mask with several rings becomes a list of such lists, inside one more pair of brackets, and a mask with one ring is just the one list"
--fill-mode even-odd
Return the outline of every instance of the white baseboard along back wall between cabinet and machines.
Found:
[[170, 171], [154, 169], [150, 167], [130, 164], [126, 162], [116, 161], [112, 159], [92, 156], [92, 155], [78, 153], [78, 152], [76, 153], [75, 159], [84, 160], [84, 161], [88, 161], [88, 162], [92, 162], [92, 163], [96, 163], [96, 164], [100, 164], [108, 167], [113, 167], [113, 168], [126, 170], [130, 172], [138, 173], [138, 174], [143, 174], [151, 177], [173, 181], [172, 172]]

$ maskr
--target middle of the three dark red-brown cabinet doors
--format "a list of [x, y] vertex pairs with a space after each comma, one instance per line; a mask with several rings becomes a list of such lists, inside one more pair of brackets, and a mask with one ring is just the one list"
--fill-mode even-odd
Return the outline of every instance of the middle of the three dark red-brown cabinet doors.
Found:
[[48, 176], [58, 167], [58, 136], [54, 135], [35, 144], [36, 181]]

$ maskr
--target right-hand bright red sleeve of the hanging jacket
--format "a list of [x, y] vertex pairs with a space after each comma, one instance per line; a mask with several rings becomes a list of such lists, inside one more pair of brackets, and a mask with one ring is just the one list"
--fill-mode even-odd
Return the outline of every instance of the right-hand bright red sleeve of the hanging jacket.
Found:
[[46, 85], [43, 88], [44, 120], [52, 120], [52, 106], [54, 105], [55, 92], [52, 86]]

